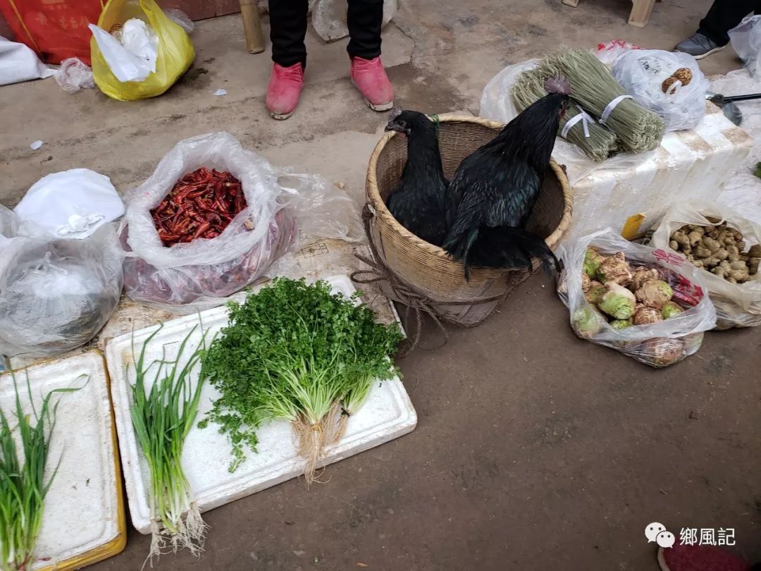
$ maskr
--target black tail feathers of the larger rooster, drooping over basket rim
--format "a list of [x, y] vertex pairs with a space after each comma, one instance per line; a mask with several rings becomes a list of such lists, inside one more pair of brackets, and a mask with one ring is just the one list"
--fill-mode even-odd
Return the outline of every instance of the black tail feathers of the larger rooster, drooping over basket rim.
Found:
[[481, 230], [469, 252], [473, 266], [524, 268], [531, 271], [533, 259], [538, 258], [549, 276], [558, 272], [555, 254], [543, 238], [536, 234], [511, 226]]

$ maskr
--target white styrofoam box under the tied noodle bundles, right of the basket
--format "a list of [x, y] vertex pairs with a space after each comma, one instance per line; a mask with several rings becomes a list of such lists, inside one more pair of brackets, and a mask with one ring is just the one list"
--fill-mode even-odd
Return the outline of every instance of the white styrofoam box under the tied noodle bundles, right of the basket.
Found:
[[750, 152], [753, 140], [714, 104], [689, 131], [667, 132], [661, 146], [627, 168], [600, 167], [573, 185], [565, 240], [610, 226], [626, 238], [647, 229], [680, 200], [713, 200]]

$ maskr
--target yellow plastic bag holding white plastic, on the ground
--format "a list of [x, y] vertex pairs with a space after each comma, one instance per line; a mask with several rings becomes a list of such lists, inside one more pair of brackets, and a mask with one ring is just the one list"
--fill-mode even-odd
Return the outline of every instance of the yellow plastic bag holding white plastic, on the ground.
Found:
[[130, 18], [149, 24], [158, 35], [156, 71], [144, 81], [119, 81], [108, 67], [95, 42], [90, 40], [93, 78], [100, 91], [120, 101], [156, 97], [167, 91], [193, 63], [196, 52], [185, 30], [167, 18], [154, 0], [109, 0], [97, 25], [111, 31]]

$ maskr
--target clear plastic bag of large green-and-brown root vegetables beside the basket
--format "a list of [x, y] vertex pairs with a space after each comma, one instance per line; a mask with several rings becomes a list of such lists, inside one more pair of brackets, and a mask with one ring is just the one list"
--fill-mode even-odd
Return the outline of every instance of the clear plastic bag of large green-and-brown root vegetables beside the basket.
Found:
[[558, 292], [581, 337], [651, 367], [700, 348], [716, 311], [698, 269], [667, 250], [634, 244], [611, 228], [562, 244]]

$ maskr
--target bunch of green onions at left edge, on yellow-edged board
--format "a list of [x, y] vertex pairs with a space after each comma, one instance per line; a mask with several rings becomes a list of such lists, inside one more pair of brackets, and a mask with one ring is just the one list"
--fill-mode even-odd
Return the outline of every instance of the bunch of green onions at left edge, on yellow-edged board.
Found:
[[[43, 522], [45, 496], [56, 477], [58, 466], [45, 482], [45, 467], [50, 449], [50, 438], [56, 426], [58, 402], [50, 409], [50, 398], [55, 393], [78, 391], [79, 388], [61, 388], [50, 391], [43, 399], [40, 414], [32, 403], [34, 421], [21, 410], [16, 376], [11, 372], [16, 393], [16, 418], [24, 451], [24, 465], [18, 458], [16, 442], [8, 416], [0, 410], [0, 569], [24, 571], [34, 561], [34, 547]], [[27, 373], [27, 392], [32, 391]], [[49, 427], [46, 428], [46, 424]], [[59, 460], [60, 463], [60, 460]]]

